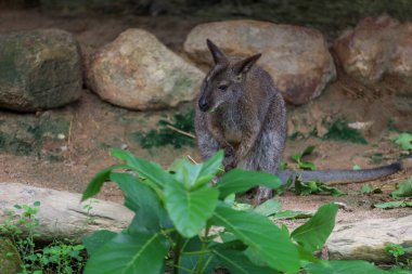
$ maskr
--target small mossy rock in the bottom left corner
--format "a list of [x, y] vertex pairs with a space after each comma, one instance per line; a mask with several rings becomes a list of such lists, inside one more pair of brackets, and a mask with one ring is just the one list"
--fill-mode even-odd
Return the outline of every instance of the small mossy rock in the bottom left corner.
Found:
[[21, 270], [22, 259], [9, 238], [0, 237], [0, 273], [15, 274]]

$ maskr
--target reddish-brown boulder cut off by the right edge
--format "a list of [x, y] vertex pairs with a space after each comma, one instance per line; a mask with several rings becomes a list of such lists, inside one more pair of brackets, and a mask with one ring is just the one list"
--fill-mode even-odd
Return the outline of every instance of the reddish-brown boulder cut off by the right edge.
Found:
[[363, 83], [375, 83], [385, 75], [412, 82], [411, 23], [366, 17], [343, 34], [334, 49], [345, 71]]

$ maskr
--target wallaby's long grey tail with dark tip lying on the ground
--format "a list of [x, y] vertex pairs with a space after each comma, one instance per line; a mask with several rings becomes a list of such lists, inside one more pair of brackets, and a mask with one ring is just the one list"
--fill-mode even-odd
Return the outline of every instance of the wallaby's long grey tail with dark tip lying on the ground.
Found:
[[317, 170], [317, 171], [293, 171], [282, 170], [278, 173], [282, 183], [285, 184], [289, 178], [295, 181], [300, 178], [301, 181], [320, 180], [323, 183], [356, 183], [372, 181], [374, 179], [392, 174], [402, 169], [401, 162], [394, 162], [391, 165], [382, 166], [373, 169], [363, 170]]

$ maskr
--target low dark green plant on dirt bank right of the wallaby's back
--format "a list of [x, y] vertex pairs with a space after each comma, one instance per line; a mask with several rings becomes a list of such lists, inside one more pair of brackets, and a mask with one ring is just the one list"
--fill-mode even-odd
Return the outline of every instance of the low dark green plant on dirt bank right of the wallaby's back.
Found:
[[358, 130], [348, 127], [345, 119], [337, 119], [333, 123], [329, 125], [327, 132], [323, 139], [368, 144], [366, 140]]

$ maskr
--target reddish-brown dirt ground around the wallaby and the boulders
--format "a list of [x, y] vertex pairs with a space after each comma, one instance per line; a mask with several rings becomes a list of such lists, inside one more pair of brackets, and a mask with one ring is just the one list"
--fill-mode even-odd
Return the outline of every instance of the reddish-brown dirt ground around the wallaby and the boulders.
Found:
[[[52, 17], [36, 10], [0, 11], [0, 32], [56, 27], [75, 34], [81, 44], [98, 48], [112, 41], [127, 28], [144, 28], [180, 54], [183, 54], [185, 35], [199, 22], [198, 18], [165, 16], [68, 18]], [[327, 195], [302, 197], [288, 192], [280, 197], [283, 209], [316, 210], [324, 203], [342, 201], [349, 210], [340, 210], [338, 222], [401, 217], [412, 212], [410, 208], [371, 208], [375, 203], [389, 200], [389, 193], [395, 184], [412, 175], [411, 155], [402, 154], [401, 149], [389, 141], [389, 136], [396, 134], [390, 131], [394, 127], [399, 131], [412, 132], [412, 93], [398, 93], [398, 84], [396, 80], [388, 78], [376, 87], [366, 88], [339, 71], [337, 81], [330, 84], [319, 99], [304, 106], [288, 106], [289, 134], [300, 133], [296, 139], [287, 141], [284, 160], [291, 167], [294, 167], [291, 155], [301, 152], [308, 145], [316, 145], [316, 153], [310, 155], [309, 159], [320, 169], [351, 169], [353, 165], [369, 168], [400, 158], [405, 162], [407, 169], [389, 178], [371, 182], [372, 185], [383, 188], [383, 194], [361, 195], [362, 184], [359, 183], [337, 185], [347, 193], [337, 198]], [[0, 147], [0, 183], [20, 182], [80, 193], [95, 172], [116, 162], [108, 155], [110, 147], [127, 147], [136, 155], [158, 161], [165, 167], [175, 158], [186, 155], [198, 160], [195, 147], [143, 149], [132, 134], [156, 127], [159, 117], [169, 117], [177, 110], [184, 112], [192, 107], [192, 104], [185, 104], [171, 110], [130, 112], [102, 102], [85, 89], [78, 102], [60, 109], [37, 114], [2, 110], [0, 133], [7, 133], [9, 138], [13, 135], [15, 141], [9, 142], [8, 147]], [[322, 135], [326, 130], [325, 125], [337, 118], [345, 118], [349, 122], [371, 122], [369, 128], [361, 130], [368, 144], [325, 141], [313, 136], [313, 130], [318, 135]], [[51, 133], [40, 127], [48, 121], [54, 122], [55, 126], [50, 129]], [[27, 135], [30, 130], [41, 132], [41, 140], [30, 139]], [[18, 149], [13, 151], [14, 145]], [[115, 201], [123, 199], [121, 193], [112, 184], [104, 186], [99, 197]]]

